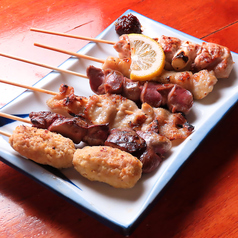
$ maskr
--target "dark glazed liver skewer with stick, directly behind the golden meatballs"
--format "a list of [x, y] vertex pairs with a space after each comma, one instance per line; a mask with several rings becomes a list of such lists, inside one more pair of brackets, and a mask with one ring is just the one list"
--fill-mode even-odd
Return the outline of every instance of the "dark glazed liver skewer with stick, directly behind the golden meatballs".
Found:
[[31, 120], [6, 113], [0, 113], [0, 116], [32, 124], [33, 127], [38, 129], [59, 133], [71, 139], [74, 143], [79, 143], [82, 140], [91, 146], [105, 145], [126, 151], [141, 160], [144, 173], [149, 173], [156, 169], [161, 163], [163, 155], [172, 146], [166, 137], [152, 131], [135, 132], [130, 128], [122, 128], [113, 129], [109, 132], [106, 125], [87, 127], [85, 122], [84, 124], [82, 122], [75, 123], [77, 118], [65, 118], [52, 112], [31, 112], [29, 115]]

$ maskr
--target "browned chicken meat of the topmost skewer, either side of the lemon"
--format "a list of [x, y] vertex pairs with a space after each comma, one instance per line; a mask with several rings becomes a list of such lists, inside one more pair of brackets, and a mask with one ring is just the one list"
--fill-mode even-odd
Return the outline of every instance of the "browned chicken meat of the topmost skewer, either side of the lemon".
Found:
[[[165, 70], [196, 73], [207, 69], [214, 71], [216, 78], [228, 78], [233, 68], [234, 62], [227, 47], [207, 42], [197, 44], [164, 35], [155, 40], [161, 44], [164, 50]], [[128, 36], [120, 36], [119, 41], [114, 45], [114, 49], [119, 53], [119, 58], [131, 58], [129, 46]]]

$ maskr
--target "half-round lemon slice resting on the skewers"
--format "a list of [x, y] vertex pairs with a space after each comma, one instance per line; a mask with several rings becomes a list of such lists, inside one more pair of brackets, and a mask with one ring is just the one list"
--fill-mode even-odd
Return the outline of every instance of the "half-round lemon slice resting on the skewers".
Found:
[[131, 48], [132, 80], [151, 80], [158, 76], [165, 65], [165, 55], [161, 45], [142, 34], [129, 34]]

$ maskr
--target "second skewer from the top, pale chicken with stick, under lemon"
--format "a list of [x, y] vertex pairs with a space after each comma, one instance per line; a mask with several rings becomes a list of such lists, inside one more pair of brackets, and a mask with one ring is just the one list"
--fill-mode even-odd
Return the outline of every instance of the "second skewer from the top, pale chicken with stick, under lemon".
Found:
[[[102, 60], [102, 59], [54, 48], [51, 46], [46, 46], [41, 44], [36, 44], [36, 45], [49, 49], [49, 50], [55, 50], [57, 52], [61, 52], [61, 53], [69, 54], [69, 55], [75, 55], [77, 57], [82, 57], [88, 60], [103, 63], [102, 69], [104, 71], [108, 69], [119, 71], [129, 80], [130, 60], [121, 59], [121, 58], [112, 57], [112, 56], [109, 56], [106, 60]], [[87, 75], [87, 77], [90, 79], [89, 75]], [[100, 79], [98, 80], [100, 81]], [[161, 75], [154, 78], [152, 81], [158, 82], [161, 84], [175, 84], [175, 85], [177, 84], [189, 90], [193, 94], [194, 99], [203, 99], [210, 92], [212, 92], [214, 85], [217, 83], [217, 78], [215, 77], [215, 74], [213, 71], [208, 71], [208, 70], [201, 70], [195, 74], [193, 74], [190, 71], [175, 72], [175, 71], [164, 70]], [[137, 83], [136, 81], [134, 82], [135, 84]], [[99, 84], [99, 83], [96, 83], [96, 84]], [[137, 84], [140, 84], [140, 83], [138, 82]], [[95, 85], [95, 83], [93, 85]], [[95, 92], [95, 90], [92, 88], [92, 85], [91, 85], [91, 89]], [[139, 88], [137, 89], [137, 91], [138, 90]], [[113, 93], [117, 93], [117, 92], [113, 92]], [[124, 94], [123, 96], [126, 96], [126, 94]], [[129, 99], [133, 100], [132, 98], [129, 98]], [[155, 106], [155, 104], [153, 104], [153, 106]]]

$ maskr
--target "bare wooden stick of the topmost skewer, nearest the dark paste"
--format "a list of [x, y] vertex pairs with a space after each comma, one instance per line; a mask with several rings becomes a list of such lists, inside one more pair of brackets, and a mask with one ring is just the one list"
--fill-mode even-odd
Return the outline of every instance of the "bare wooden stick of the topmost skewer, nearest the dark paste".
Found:
[[70, 34], [60, 33], [60, 32], [55, 32], [55, 31], [47, 31], [47, 30], [41, 30], [41, 29], [36, 29], [36, 28], [30, 28], [30, 30], [35, 31], [35, 32], [46, 33], [46, 34], [57, 35], [57, 36], [70, 37], [70, 38], [75, 38], [75, 39], [80, 39], [80, 40], [88, 40], [88, 41], [93, 41], [93, 42], [97, 42], [97, 43], [105, 43], [105, 44], [111, 44], [111, 45], [115, 44], [115, 42], [113, 42], [113, 41], [101, 40], [101, 39], [96, 39], [96, 38], [91, 38], [91, 37], [84, 37], [84, 36], [77, 36], [77, 35], [70, 35]]

